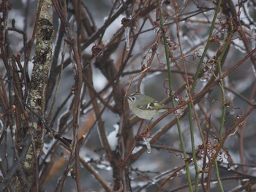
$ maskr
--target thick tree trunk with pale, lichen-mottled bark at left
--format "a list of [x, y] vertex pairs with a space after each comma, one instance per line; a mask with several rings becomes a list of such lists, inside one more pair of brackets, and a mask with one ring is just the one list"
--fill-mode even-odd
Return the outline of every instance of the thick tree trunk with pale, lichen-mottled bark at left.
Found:
[[[39, 3], [40, 4], [40, 3]], [[31, 134], [31, 145], [23, 161], [23, 171], [26, 175], [26, 184], [19, 180], [20, 188], [26, 185], [31, 191], [38, 178], [37, 175], [37, 158], [44, 144], [44, 128], [39, 120], [37, 113], [41, 117], [45, 115], [45, 87], [48, 82], [48, 73], [52, 60], [53, 49], [53, 9], [52, 1], [42, 1], [42, 6], [38, 6], [39, 20], [37, 22], [37, 42], [34, 55], [34, 67], [31, 74], [29, 86], [29, 132]], [[40, 9], [40, 11], [39, 11]], [[33, 145], [32, 145], [33, 144]], [[30, 186], [27, 186], [29, 183]]]

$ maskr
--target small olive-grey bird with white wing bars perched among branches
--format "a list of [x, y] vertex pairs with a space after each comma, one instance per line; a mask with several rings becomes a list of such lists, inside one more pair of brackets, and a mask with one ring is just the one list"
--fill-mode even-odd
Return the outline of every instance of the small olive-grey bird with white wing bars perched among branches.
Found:
[[170, 109], [170, 107], [160, 104], [150, 96], [140, 93], [132, 93], [131, 95], [126, 96], [126, 98], [128, 99], [129, 109], [142, 119], [151, 120], [160, 113]]

